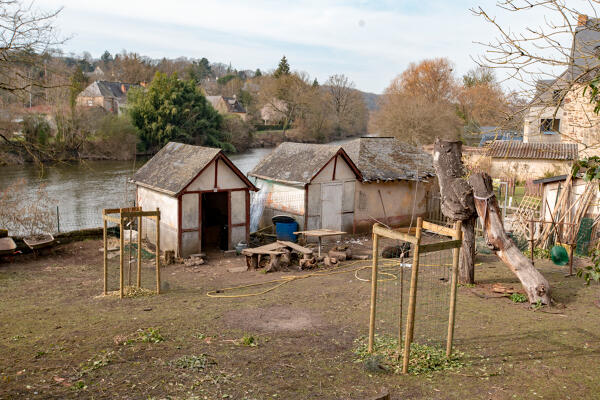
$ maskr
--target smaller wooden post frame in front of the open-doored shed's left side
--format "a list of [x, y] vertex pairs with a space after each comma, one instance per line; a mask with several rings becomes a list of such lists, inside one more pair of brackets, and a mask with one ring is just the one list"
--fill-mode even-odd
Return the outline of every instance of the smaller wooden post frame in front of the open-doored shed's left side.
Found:
[[[111, 214], [118, 214], [118, 217]], [[156, 223], [156, 294], [160, 294], [160, 210], [142, 211], [141, 207], [129, 208], [105, 208], [102, 210], [102, 238], [104, 249], [104, 295], [108, 293], [108, 249], [107, 249], [107, 225], [109, 222], [119, 226], [119, 297], [122, 299], [124, 295], [124, 247], [125, 238], [123, 235], [123, 227], [127, 220], [138, 220], [138, 235], [137, 235], [137, 281], [136, 286], [142, 286], [142, 217], [154, 218]], [[131, 246], [131, 243], [129, 244]]]

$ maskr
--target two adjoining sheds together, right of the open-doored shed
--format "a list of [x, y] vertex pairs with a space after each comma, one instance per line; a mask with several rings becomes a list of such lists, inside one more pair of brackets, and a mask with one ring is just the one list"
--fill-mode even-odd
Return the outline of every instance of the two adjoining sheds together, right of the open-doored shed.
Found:
[[426, 214], [427, 196], [436, 190], [431, 156], [394, 138], [342, 146], [285, 142], [248, 175], [261, 189], [261, 226], [289, 215], [306, 230], [407, 225]]

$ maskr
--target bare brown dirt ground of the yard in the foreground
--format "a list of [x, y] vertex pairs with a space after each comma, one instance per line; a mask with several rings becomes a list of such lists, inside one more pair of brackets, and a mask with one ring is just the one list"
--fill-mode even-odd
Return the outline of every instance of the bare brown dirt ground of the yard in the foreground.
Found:
[[[210, 290], [306, 274], [230, 272], [241, 257], [213, 257], [164, 267], [160, 296], [119, 300], [99, 296], [100, 247], [72, 243], [0, 264], [0, 398], [365, 399], [384, 387], [393, 399], [600, 398], [599, 287], [549, 261], [537, 266], [558, 306], [531, 310], [490, 294], [493, 283], [517, 281], [494, 256], [480, 258], [479, 285], [459, 288], [455, 347], [465, 367], [401, 376], [354, 362], [354, 341], [368, 331], [369, 283], [352, 273], [211, 298]], [[110, 273], [116, 289], [115, 262]], [[151, 287], [151, 263], [143, 274]], [[140, 329], [164, 340], [144, 342]]]

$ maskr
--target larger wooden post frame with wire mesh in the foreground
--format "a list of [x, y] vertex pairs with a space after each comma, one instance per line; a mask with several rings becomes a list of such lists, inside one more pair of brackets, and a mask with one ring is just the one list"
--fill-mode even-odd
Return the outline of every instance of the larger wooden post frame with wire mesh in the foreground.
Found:
[[[421, 244], [422, 230], [426, 229], [438, 235], [449, 236], [452, 240], [437, 243]], [[454, 224], [454, 228], [437, 225], [417, 219], [416, 229], [393, 230], [383, 227], [381, 224], [373, 225], [373, 266], [371, 268], [371, 310], [369, 319], [369, 353], [373, 352], [375, 340], [375, 318], [377, 304], [377, 264], [379, 261], [379, 237], [401, 240], [411, 243], [413, 246], [413, 263], [410, 277], [410, 292], [408, 300], [408, 315], [406, 317], [406, 332], [404, 337], [402, 373], [408, 373], [408, 362], [410, 358], [410, 345], [413, 340], [415, 327], [415, 310], [417, 304], [417, 283], [419, 279], [419, 258], [421, 254], [452, 249], [452, 280], [450, 283], [450, 312], [448, 315], [448, 337], [446, 341], [446, 357], [452, 355], [452, 342], [454, 339], [454, 320], [456, 315], [456, 289], [458, 283], [458, 263], [460, 259], [460, 247], [462, 245], [461, 222]], [[414, 231], [414, 236], [411, 235]], [[406, 233], [405, 233], [406, 232]], [[402, 321], [398, 329], [398, 346], [402, 346]], [[399, 351], [401, 349], [399, 348]]]

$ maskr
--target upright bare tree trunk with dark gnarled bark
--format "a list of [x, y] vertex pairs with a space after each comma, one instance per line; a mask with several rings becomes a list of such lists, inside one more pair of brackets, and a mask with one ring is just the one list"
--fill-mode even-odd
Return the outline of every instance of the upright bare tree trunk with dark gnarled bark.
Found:
[[465, 179], [462, 142], [436, 140], [433, 165], [440, 184], [442, 212], [453, 221], [462, 221], [463, 243], [460, 251], [458, 280], [475, 283], [475, 222], [477, 212], [473, 189]]

